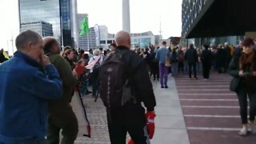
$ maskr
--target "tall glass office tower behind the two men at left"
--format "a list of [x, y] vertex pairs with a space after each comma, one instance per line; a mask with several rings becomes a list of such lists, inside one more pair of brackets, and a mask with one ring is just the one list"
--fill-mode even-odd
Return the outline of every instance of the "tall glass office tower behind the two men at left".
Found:
[[20, 30], [22, 24], [48, 22], [53, 27], [54, 37], [63, 46], [72, 46], [70, 0], [18, 0]]

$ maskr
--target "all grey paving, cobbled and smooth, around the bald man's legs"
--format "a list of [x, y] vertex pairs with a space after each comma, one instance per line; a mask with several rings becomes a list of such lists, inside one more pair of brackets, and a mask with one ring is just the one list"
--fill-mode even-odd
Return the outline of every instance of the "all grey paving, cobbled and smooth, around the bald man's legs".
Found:
[[[157, 117], [155, 118], [156, 129], [154, 138], [150, 141], [151, 144], [189, 144], [190, 140], [187, 134], [174, 78], [169, 78], [168, 89], [161, 89], [159, 82], [152, 81], [152, 83], [157, 101], [157, 106], [155, 107]], [[94, 102], [94, 98], [87, 95], [86, 98], [84, 98], [84, 103], [87, 106], [87, 116], [90, 120], [91, 138], [82, 137], [82, 135], [79, 134], [75, 143], [110, 143], [106, 123], [106, 110], [101, 100], [98, 99], [98, 102]], [[127, 140], [128, 139], [129, 135], [127, 134]]]

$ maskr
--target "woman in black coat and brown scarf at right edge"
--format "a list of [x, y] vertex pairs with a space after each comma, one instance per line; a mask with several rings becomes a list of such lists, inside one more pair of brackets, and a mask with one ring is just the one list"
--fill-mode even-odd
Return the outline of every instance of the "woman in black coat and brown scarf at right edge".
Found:
[[[242, 42], [241, 54], [235, 54], [230, 62], [229, 73], [233, 77], [230, 82], [230, 90], [238, 95], [240, 115], [242, 119], [242, 130], [239, 134], [247, 135], [250, 129], [256, 132], [256, 52], [253, 50], [254, 40], [246, 38]], [[250, 100], [250, 118], [247, 119], [247, 96]]]

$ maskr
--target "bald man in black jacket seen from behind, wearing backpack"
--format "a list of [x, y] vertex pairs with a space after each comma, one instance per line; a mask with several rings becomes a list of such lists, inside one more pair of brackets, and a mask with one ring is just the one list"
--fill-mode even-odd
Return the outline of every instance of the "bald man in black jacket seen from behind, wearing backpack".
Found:
[[[129, 78], [127, 77], [125, 80], [132, 83], [130, 85], [124, 85], [129, 86], [132, 92], [130, 93], [130, 98], [126, 102], [122, 101], [122, 106], [118, 106], [118, 104], [114, 105], [114, 103], [111, 104], [109, 101], [113, 98], [118, 98], [114, 95], [117, 95], [118, 92], [110, 92], [110, 89], [112, 89], [110, 81], [115, 76], [118, 77], [118, 74], [111, 76], [106, 75], [106, 73], [104, 75], [100, 72], [100, 74], [102, 74], [100, 76], [102, 86], [100, 94], [102, 101], [106, 106], [110, 141], [112, 144], [125, 144], [126, 133], [128, 132], [135, 143], [148, 144], [150, 141], [146, 130], [145, 109], [142, 107], [141, 102], [146, 106], [147, 114], [154, 114], [154, 106], [156, 106], [156, 102], [146, 63], [143, 58], [130, 50], [131, 43], [129, 33], [126, 31], [119, 31], [115, 36], [115, 42], [117, 43], [116, 50], [112, 51], [106, 57], [102, 63], [102, 70], [104, 69], [104, 66], [107, 66], [108, 62], [111, 62], [111, 59], [120, 58], [119, 60], [123, 65], [121, 71], [125, 71], [124, 73], [126, 73], [123, 75], [129, 75]], [[105, 72], [112, 70], [114, 66], [112, 69], [110, 69], [111, 67], [106, 68]], [[120, 72], [119, 69], [118, 72]], [[118, 79], [112, 80], [112, 82], [116, 81], [118, 81]], [[109, 86], [104, 85], [104, 83]], [[107, 90], [106, 87], [109, 87], [109, 90]], [[124, 90], [124, 88], [122, 88], [122, 90]], [[125, 92], [122, 91], [122, 94], [124, 93]], [[106, 100], [106, 97], [110, 98]], [[125, 96], [122, 95], [122, 98], [124, 97]], [[108, 106], [106, 103], [109, 103], [110, 105]]]

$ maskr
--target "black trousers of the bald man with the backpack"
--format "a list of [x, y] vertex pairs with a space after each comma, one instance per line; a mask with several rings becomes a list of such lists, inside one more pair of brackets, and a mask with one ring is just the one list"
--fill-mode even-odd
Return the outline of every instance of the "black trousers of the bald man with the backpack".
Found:
[[150, 144], [142, 106], [124, 106], [106, 111], [111, 144], [126, 144], [127, 132], [135, 144]]

